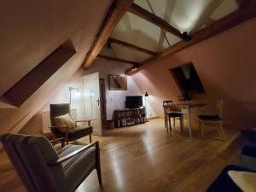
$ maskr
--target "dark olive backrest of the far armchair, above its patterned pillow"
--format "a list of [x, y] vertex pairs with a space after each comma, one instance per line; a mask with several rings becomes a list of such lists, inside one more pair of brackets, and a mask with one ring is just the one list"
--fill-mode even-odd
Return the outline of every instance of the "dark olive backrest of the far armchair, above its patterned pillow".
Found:
[[49, 118], [52, 126], [55, 126], [55, 117], [61, 116], [70, 112], [69, 103], [50, 104], [49, 105]]

